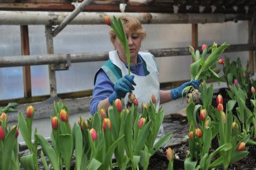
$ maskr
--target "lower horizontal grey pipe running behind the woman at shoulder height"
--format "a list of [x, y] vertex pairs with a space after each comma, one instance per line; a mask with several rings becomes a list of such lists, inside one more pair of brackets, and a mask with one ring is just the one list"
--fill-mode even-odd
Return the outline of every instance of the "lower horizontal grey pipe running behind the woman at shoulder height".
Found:
[[[198, 47], [201, 49], [201, 47]], [[238, 52], [256, 50], [254, 44], [234, 44], [228, 47], [225, 52]], [[190, 55], [188, 47], [168, 48], [168, 49], [149, 49], [145, 52], [152, 53], [155, 57], [165, 56], [181, 56]], [[0, 67], [17, 67], [25, 65], [44, 65], [44, 64], [61, 64], [67, 63], [68, 54], [53, 54], [53, 55], [23, 55], [23, 56], [2, 56], [0, 57]], [[92, 62], [106, 61], [108, 52], [87, 52], [76, 53], [70, 55], [71, 62]]]

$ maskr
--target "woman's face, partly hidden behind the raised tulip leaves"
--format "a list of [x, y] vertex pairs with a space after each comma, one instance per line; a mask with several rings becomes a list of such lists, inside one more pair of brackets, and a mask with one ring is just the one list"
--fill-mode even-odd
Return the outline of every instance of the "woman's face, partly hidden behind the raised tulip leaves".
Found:
[[[124, 30], [126, 31], [127, 42], [130, 47], [130, 64], [136, 64], [137, 54], [139, 52], [139, 49], [141, 48], [142, 37], [135, 32], [131, 32], [130, 29], [126, 28]], [[111, 41], [115, 49], [117, 49], [121, 61], [126, 63], [126, 52], [118, 37], [116, 36], [115, 39], [112, 38]]]

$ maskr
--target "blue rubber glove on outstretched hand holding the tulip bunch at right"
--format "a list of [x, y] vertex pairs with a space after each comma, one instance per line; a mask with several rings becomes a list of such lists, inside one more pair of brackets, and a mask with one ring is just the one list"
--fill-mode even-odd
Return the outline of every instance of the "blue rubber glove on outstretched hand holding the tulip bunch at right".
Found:
[[[171, 97], [173, 100], [178, 99], [182, 96], [182, 91], [184, 88], [192, 85], [195, 89], [199, 88], [200, 80], [190, 80], [190, 82], [183, 83], [180, 87], [174, 88], [171, 90]], [[186, 92], [183, 92], [183, 96], [186, 95]]]

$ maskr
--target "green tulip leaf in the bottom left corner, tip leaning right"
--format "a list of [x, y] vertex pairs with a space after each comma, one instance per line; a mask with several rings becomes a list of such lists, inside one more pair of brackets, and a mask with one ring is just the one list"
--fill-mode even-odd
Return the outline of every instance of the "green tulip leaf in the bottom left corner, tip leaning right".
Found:
[[5, 136], [4, 140], [4, 147], [2, 148], [2, 153], [1, 153], [1, 168], [2, 169], [10, 169], [11, 168], [11, 159], [10, 156], [13, 151], [13, 147], [15, 144], [15, 132], [16, 128], [13, 128], [7, 136]]

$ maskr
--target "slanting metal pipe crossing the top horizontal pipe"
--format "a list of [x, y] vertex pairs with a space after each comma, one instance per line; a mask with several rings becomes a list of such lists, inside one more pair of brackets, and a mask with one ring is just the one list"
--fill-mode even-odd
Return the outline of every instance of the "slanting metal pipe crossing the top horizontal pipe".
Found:
[[59, 32], [61, 32], [62, 29], [64, 29], [68, 23], [70, 23], [84, 8], [89, 5], [93, 0], [84, 0], [75, 10], [72, 11], [72, 13], [69, 14], [69, 16], [64, 19], [57, 28], [55, 28], [52, 32], [53, 37], [58, 35]]

